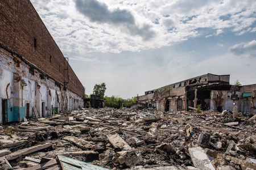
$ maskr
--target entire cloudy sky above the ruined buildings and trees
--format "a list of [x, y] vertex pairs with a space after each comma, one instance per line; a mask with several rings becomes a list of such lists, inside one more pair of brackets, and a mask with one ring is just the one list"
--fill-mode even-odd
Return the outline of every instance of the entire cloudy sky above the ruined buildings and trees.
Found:
[[92, 94], [123, 98], [207, 73], [256, 83], [255, 0], [31, 0]]

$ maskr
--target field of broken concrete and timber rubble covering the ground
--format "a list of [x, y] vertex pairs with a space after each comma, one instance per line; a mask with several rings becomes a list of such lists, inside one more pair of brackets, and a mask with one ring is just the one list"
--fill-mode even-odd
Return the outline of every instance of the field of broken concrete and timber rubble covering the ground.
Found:
[[250, 113], [81, 109], [2, 126], [0, 169], [255, 169]]

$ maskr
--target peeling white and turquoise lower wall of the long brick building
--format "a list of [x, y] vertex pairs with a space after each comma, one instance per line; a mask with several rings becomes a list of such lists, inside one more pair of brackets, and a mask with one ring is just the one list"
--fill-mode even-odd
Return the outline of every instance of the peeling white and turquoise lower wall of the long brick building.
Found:
[[[36, 70], [32, 75], [26, 63], [20, 61], [17, 65], [15, 57], [1, 48], [0, 66], [0, 123], [3, 120], [2, 102], [5, 100], [8, 101], [7, 122], [23, 121], [24, 116], [35, 116], [33, 107], [39, 116], [46, 117], [53, 113], [53, 108], [57, 112], [72, 111], [84, 105], [81, 96], [64, 86], [57, 86], [51, 78], [42, 78]], [[61, 102], [61, 96], [69, 99], [69, 103]]]

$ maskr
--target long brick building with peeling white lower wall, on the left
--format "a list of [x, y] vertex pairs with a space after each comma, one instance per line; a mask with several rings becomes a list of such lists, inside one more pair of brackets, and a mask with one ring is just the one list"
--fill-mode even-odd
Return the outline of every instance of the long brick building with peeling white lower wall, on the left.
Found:
[[0, 123], [83, 107], [84, 87], [31, 2], [0, 7]]

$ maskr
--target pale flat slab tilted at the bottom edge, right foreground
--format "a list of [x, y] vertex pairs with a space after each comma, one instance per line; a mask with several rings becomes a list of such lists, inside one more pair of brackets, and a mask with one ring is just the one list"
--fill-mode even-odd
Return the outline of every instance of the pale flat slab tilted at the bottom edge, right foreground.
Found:
[[215, 169], [212, 163], [210, 163], [210, 159], [208, 158], [203, 148], [191, 147], [191, 148], [188, 148], [188, 151], [194, 167], [199, 169], [211, 169], [211, 170]]

